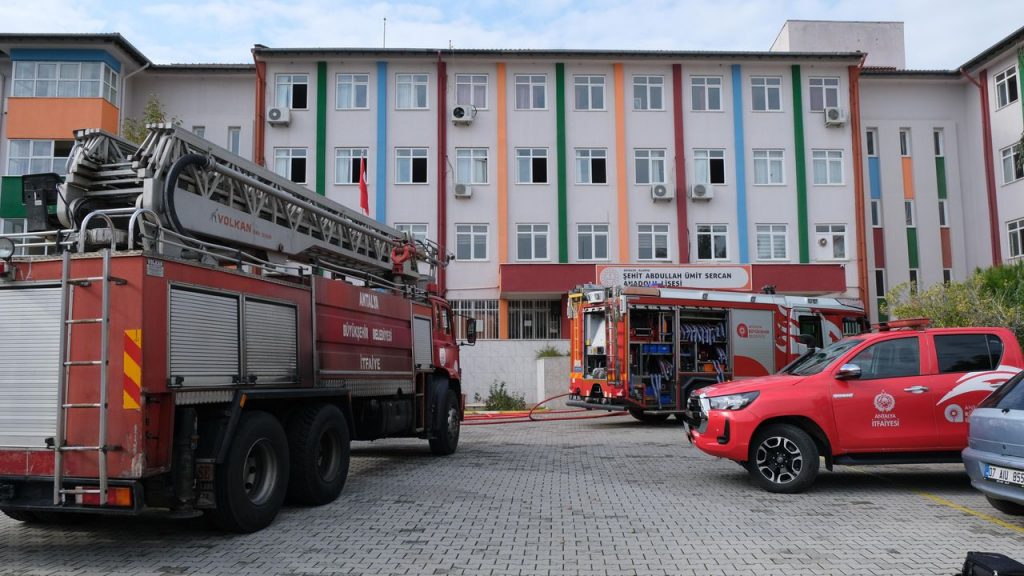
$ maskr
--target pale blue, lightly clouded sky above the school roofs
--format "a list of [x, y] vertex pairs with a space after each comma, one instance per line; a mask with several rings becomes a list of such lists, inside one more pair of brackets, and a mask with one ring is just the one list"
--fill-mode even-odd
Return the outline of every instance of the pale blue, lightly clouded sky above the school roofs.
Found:
[[0, 33], [119, 32], [156, 64], [251, 63], [254, 44], [762, 51], [786, 19], [903, 22], [907, 68], [950, 70], [1024, 26], [1024, 1], [0, 0]]

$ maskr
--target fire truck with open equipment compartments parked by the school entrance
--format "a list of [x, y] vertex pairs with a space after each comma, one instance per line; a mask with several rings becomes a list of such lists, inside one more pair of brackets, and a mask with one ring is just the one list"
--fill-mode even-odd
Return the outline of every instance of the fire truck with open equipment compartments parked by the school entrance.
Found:
[[690, 392], [773, 374], [809, 348], [867, 329], [856, 300], [581, 286], [568, 296], [567, 404], [682, 420]]

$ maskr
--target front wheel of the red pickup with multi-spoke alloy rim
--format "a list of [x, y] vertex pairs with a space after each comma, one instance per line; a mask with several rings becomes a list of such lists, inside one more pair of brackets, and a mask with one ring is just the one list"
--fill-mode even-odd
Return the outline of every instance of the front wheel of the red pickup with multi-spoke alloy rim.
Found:
[[818, 474], [818, 448], [804, 430], [792, 424], [770, 424], [751, 443], [748, 470], [768, 492], [803, 492]]

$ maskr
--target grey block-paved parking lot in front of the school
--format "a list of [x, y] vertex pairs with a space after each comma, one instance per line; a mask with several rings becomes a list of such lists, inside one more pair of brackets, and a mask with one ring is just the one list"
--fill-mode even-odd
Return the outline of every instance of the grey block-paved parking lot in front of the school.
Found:
[[629, 417], [466, 427], [447, 458], [418, 441], [354, 446], [338, 501], [258, 534], [0, 518], [0, 574], [951, 575], [971, 549], [1024, 560], [1024, 520], [958, 465], [844, 467], [772, 495], [682, 426]]

